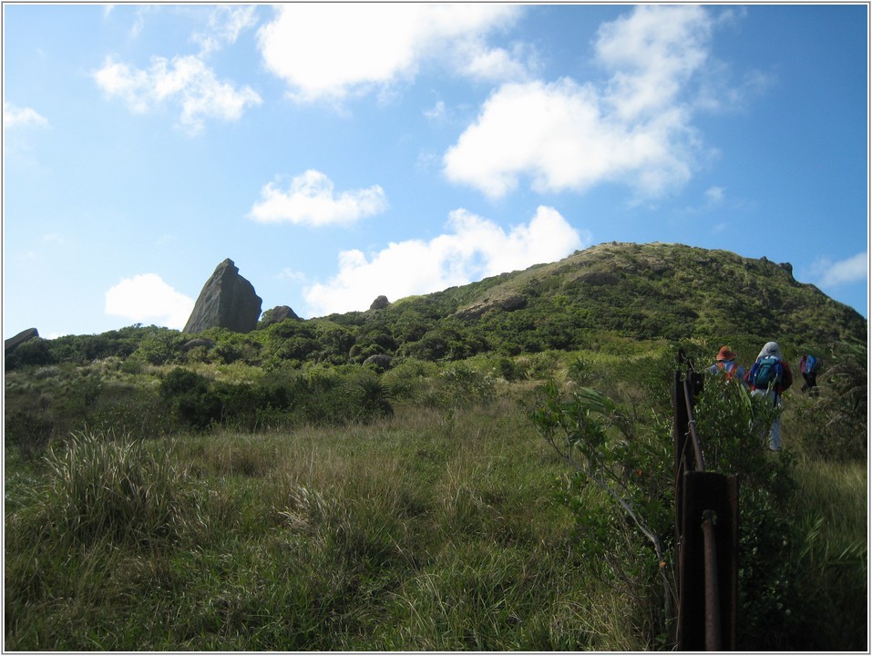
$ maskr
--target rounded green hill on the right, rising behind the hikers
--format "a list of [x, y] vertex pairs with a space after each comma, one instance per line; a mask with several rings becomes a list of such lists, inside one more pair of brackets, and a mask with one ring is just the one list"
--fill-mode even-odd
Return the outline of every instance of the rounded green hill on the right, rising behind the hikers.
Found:
[[603, 331], [640, 339], [745, 335], [826, 344], [866, 341], [867, 322], [789, 264], [680, 244], [606, 243], [379, 311], [475, 329], [511, 351], [584, 346]]

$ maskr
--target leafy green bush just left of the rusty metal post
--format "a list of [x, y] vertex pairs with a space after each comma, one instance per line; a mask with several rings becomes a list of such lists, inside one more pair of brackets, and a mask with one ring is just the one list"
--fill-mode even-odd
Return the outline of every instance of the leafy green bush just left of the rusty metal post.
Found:
[[[608, 563], [604, 572], [618, 579], [646, 585], [660, 579], [663, 612], [653, 632], [665, 641], [675, 596], [668, 436], [646, 435], [620, 405], [594, 389], [583, 387], [564, 398], [553, 381], [528, 416], [572, 467], [558, 498], [579, 523], [581, 548]], [[647, 559], [646, 549], [653, 551]]]

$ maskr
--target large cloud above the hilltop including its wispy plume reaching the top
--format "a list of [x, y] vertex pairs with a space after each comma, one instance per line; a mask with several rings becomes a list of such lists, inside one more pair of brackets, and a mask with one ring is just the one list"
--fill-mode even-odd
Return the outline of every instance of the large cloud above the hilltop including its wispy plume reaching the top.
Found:
[[641, 5], [601, 26], [595, 56], [606, 83], [498, 88], [446, 151], [446, 177], [492, 198], [521, 178], [538, 191], [623, 182], [639, 198], [680, 187], [701, 148], [687, 96], [709, 60], [712, 21], [699, 5]]

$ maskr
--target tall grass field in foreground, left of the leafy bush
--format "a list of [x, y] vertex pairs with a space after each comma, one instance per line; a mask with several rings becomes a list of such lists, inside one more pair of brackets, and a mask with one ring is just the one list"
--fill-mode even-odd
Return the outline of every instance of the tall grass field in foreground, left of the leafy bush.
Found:
[[6, 517], [9, 649], [591, 644], [571, 520], [549, 501], [560, 467], [510, 401], [344, 430], [91, 434], [30, 467]]

